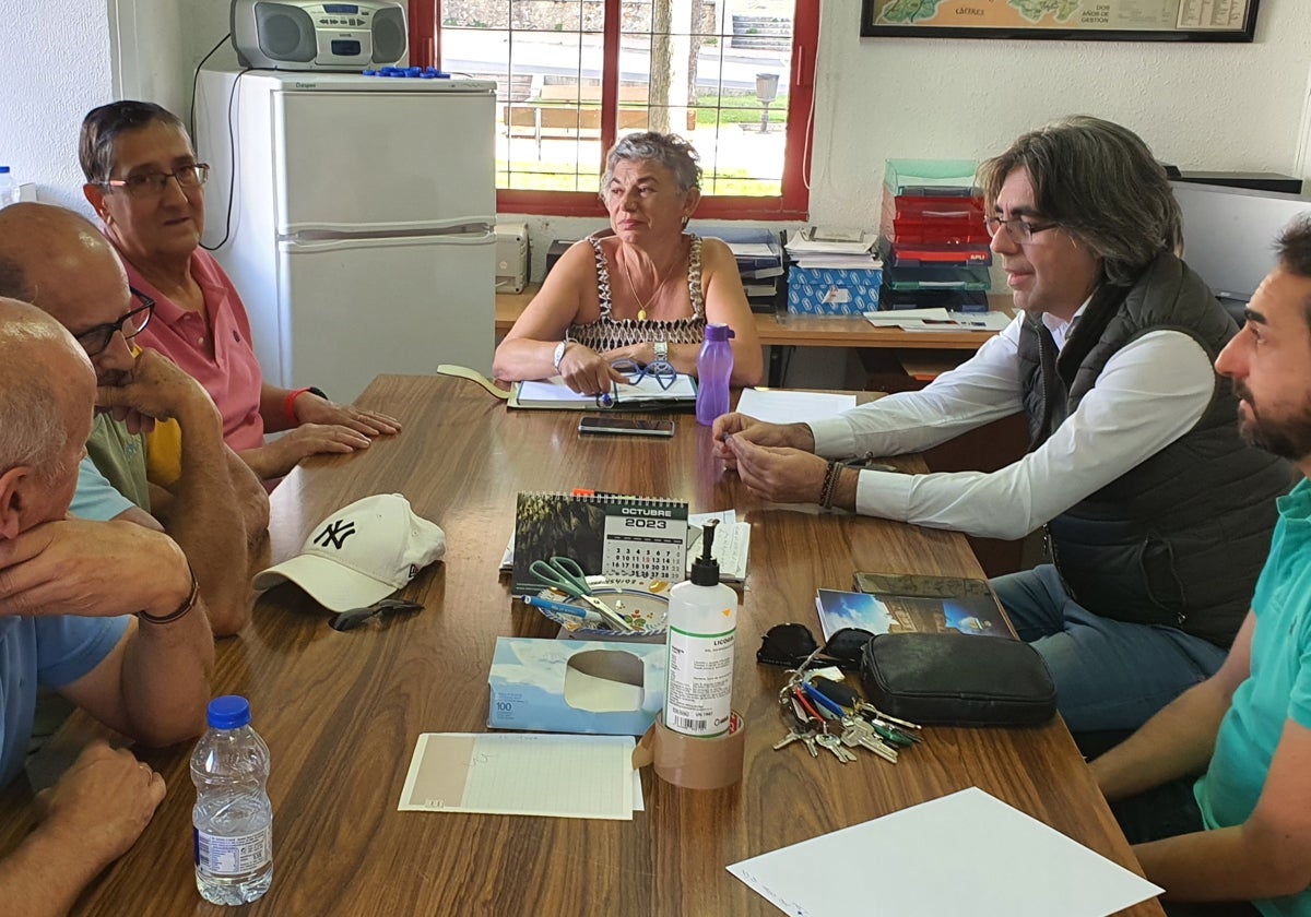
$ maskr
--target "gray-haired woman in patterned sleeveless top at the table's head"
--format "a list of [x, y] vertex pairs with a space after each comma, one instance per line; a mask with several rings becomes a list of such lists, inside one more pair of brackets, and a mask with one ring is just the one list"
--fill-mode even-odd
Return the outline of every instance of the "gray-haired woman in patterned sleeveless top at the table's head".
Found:
[[701, 199], [692, 145], [673, 134], [631, 134], [606, 156], [600, 199], [610, 231], [576, 242], [496, 350], [493, 373], [518, 381], [561, 376], [599, 394], [627, 381], [612, 363], [657, 354], [696, 375], [707, 322], [734, 331], [733, 384], [763, 373], [755, 321], [737, 262], [717, 238], [684, 233]]

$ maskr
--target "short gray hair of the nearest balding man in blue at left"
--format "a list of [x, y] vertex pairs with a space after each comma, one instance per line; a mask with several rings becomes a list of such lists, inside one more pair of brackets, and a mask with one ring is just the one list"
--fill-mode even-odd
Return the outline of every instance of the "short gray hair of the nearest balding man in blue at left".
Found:
[[[26, 303], [24, 303], [26, 308]], [[34, 342], [67, 335], [52, 318], [37, 316], [0, 322], [0, 473], [13, 468], [37, 469], [43, 481], [63, 477], [68, 448], [66, 405], [59, 386], [43, 372], [31, 371]]]

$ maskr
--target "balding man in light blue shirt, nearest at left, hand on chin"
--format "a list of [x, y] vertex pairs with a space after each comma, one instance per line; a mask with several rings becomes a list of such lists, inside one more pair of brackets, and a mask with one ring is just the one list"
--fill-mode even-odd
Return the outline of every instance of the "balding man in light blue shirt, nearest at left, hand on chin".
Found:
[[[0, 299], [0, 786], [22, 770], [38, 686], [144, 744], [205, 724], [214, 641], [182, 550], [134, 523], [67, 515], [94, 400], [72, 335]], [[67, 912], [135, 842], [164, 789], [131, 752], [89, 745], [0, 861], [4, 910]]]

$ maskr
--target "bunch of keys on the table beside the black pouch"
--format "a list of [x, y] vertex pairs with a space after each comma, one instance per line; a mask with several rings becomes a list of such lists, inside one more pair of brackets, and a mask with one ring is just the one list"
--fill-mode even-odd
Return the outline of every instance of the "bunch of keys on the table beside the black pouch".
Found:
[[[855, 689], [810, 672], [806, 667], [813, 658], [814, 654], [801, 663], [779, 692], [780, 713], [789, 728], [775, 743], [776, 751], [800, 740], [810, 757], [819, 757], [818, 748], [825, 748], [848, 764], [856, 760], [851, 749], [859, 745], [897, 764], [899, 748], [922, 741], [916, 723], [890, 717], [867, 703]], [[838, 724], [840, 734], [835, 734]]]

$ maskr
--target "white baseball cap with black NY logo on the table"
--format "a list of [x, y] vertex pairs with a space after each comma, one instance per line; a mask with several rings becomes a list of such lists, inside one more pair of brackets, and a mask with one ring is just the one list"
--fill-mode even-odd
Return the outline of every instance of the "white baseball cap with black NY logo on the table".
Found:
[[334, 612], [372, 605], [446, 554], [446, 533], [400, 494], [375, 494], [313, 528], [300, 554], [258, 572], [264, 591], [288, 579]]

